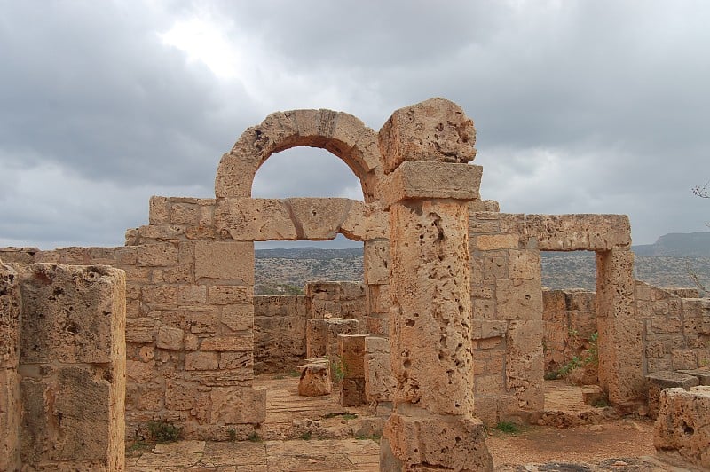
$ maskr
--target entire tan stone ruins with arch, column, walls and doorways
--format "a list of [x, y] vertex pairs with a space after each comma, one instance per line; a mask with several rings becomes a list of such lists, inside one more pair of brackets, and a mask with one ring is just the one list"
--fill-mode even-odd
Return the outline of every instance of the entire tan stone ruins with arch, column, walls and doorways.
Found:
[[[255, 371], [301, 366], [315, 395], [333, 359], [342, 404], [386, 419], [382, 470], [492, 470], [484, 425], [545, 421], [546, 370], [591, 334], [600, 394], [710, 468], [710, 300], [634, 280], [627, 216], [501, 213], [475, 141], [441, 98], [379, 132], [279, 112], [222, 156], [214, 199], [153, 197], [125, 246], [0, 249], [0, 470], [122, 470], [151, 421], [247, 439], [266, 414]], [[251, 198], [294, 146], [342, 159], [364, 201]], [[364, 243], [364, 280], [254, 295], [254, 241], [338, 233]], [[596, 293], [543, 290], [540, 251], [576, 250], [596, 253]]]

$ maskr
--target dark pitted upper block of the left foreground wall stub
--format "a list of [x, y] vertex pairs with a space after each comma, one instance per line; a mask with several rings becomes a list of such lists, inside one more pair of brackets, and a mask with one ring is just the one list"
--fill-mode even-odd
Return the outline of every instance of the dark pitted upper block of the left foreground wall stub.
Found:
[[[122, 271], [58, 264], [22, 270], [20, 362], [111, 362], [112, 346], [125, 329]], [[115, 293], [119, 285], [120, 299]]]

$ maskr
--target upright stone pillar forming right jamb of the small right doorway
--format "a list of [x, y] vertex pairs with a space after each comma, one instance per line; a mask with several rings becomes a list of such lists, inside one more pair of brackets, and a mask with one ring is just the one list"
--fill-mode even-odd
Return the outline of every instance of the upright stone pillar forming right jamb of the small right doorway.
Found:
[[599, 381], [613, 405], [645, 398], [642, 321], [634, 306], [634, 253], [614, 248], [596, 253]]

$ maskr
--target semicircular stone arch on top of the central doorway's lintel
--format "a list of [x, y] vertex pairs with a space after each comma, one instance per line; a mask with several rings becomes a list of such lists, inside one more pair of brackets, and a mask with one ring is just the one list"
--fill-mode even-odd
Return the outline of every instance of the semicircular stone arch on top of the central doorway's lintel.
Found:
[[383, 166], [377, 133], [351, 114], [325, 109], [276, 112], [244, 131], [219, 161], [215, 195], [250, 197], [256, 171], [264, 161], [272, 153], [296, 146], [334, 153], [359, 178], [365, 201], [379, 200]]

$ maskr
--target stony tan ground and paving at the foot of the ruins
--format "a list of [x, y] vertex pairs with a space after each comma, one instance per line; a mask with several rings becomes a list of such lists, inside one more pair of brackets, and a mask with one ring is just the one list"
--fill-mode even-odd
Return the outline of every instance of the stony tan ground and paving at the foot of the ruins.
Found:
[[[276, 377], [276, 378], [274, 378]], [[267, 418], [256, 441], [182, 441], [130, 453], [129, 471], [375, 471], [377, 437], [369, 435], [367, 407], [343, 408], [336, 395], [298, 397], [298, 379], [267, 375]], [[548, 406], [584, 411], [576, 389], [553, 382]], [[579, 392], [577, 392], [579, 393]], [[359, 438], [355, 438], [359, 437]], [[604, 420], [573, 428], [529, 426], [515, 433], [493, 429], [486, 439], [498, 471], [674, 471], [654, 457], [653, 424], [641, 418]], [[667, 460], [664, 458], [664, 460]]]

